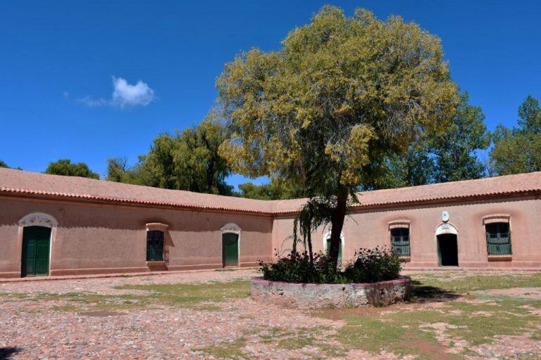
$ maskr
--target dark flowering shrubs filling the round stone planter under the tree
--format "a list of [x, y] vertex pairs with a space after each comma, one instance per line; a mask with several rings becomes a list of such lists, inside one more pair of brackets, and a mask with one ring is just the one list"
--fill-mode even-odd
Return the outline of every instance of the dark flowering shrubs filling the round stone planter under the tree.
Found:
[[290, 253], [277, 262], [260, 265], [265, 280], [289, 283], [373, 283], [397, 278], [401, 268], [398, 255], [387, 248], [357, 250], [344, 271], [321, 252], [313, 255], [313, 266], [307, 252]]

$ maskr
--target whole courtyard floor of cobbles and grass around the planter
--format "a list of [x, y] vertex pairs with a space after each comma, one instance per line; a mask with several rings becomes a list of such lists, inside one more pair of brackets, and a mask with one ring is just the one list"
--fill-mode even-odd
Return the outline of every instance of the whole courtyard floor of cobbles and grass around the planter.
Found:
[[538, 359], [541, 273], [406, 273], [408, 302], [253, 302], [256, 270], [0, 283], [0, 359]]

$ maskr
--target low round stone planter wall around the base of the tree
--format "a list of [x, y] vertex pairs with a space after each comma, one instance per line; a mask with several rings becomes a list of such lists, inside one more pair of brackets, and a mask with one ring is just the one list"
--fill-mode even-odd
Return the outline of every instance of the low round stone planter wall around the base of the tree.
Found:
[[383, 307], [408, 297], [411, 279], [400, 276], [379, 283], [309, 284], [252, 278], [251, 298], [285, 307]]

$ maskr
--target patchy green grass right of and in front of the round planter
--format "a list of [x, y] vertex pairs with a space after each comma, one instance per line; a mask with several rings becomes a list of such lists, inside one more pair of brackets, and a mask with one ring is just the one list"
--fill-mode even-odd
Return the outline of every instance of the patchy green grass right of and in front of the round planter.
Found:
[[[512, 279], [511, 279], [511, 278]], [[541, 318], [532, 314], [540, 308], [540, 300], [515, 298], [506, 295], [467, 294], [472, 290], [541, 286], [541, 274], [513, 274], [509, 276], [448, 276], [444, 280], [432, 274], [415, 279], [413, 302], [444, 301], [436, 309], [386, 312], [383, 309], [328, 309], [317, 316], [345, 321], [335, 339], [352, 349], [364, 349], [378, 354], [383, 350], [397, 356], [412, 355], [419, 359], [452, 359], [437, 336], [444, 333], [451, 341], [466, 340], [470, 345], [492, 342], [499, 335], [521, 335], [541, 328]], [[416, 289], [415, 289], [416, 288]], [[467, 299], [486, 300], [466, 302]], [[435, 327], [430, 325], [437, 324]], [[541, 336], [536, 333], [533, 336]]]

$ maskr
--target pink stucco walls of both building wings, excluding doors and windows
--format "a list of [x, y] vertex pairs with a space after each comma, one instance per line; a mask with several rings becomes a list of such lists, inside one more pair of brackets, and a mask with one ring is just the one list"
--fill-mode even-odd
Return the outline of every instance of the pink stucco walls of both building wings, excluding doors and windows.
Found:
[[[458, 231], [460, 267], [541, 267], [541, 200], [534, 196], [358, 210], [344, 225], [343, 259], [351, 259], [359, 248], [390, 245], [389, 223], [405, 219], [411, 238], [411, 262], [406, 267], [435, 267], [435, 229], [442, 224], [443, 210], [449, 212], [449, 224]], [[240, 266], [270, 261], [275, 250], [291, 248], [292, 215], [1, 196], [0, 277], [20, 276], [22, 229], [18, 221], [32, 212], [44, 212], [58, 221], [51, 243], [51, 275], [149, 271], [145, 224], [151, 222], [168, 225], [166, 266], [170, 270], [222, 267], [220, 228], [228, 223], [241, 229]], [[491, 214], [510, 217], [513, 255], [505, 262], [488, 261], [483, 217]], [[323, 250], [323, 229], [313, 234], [313, 245], [316, 251]]]

